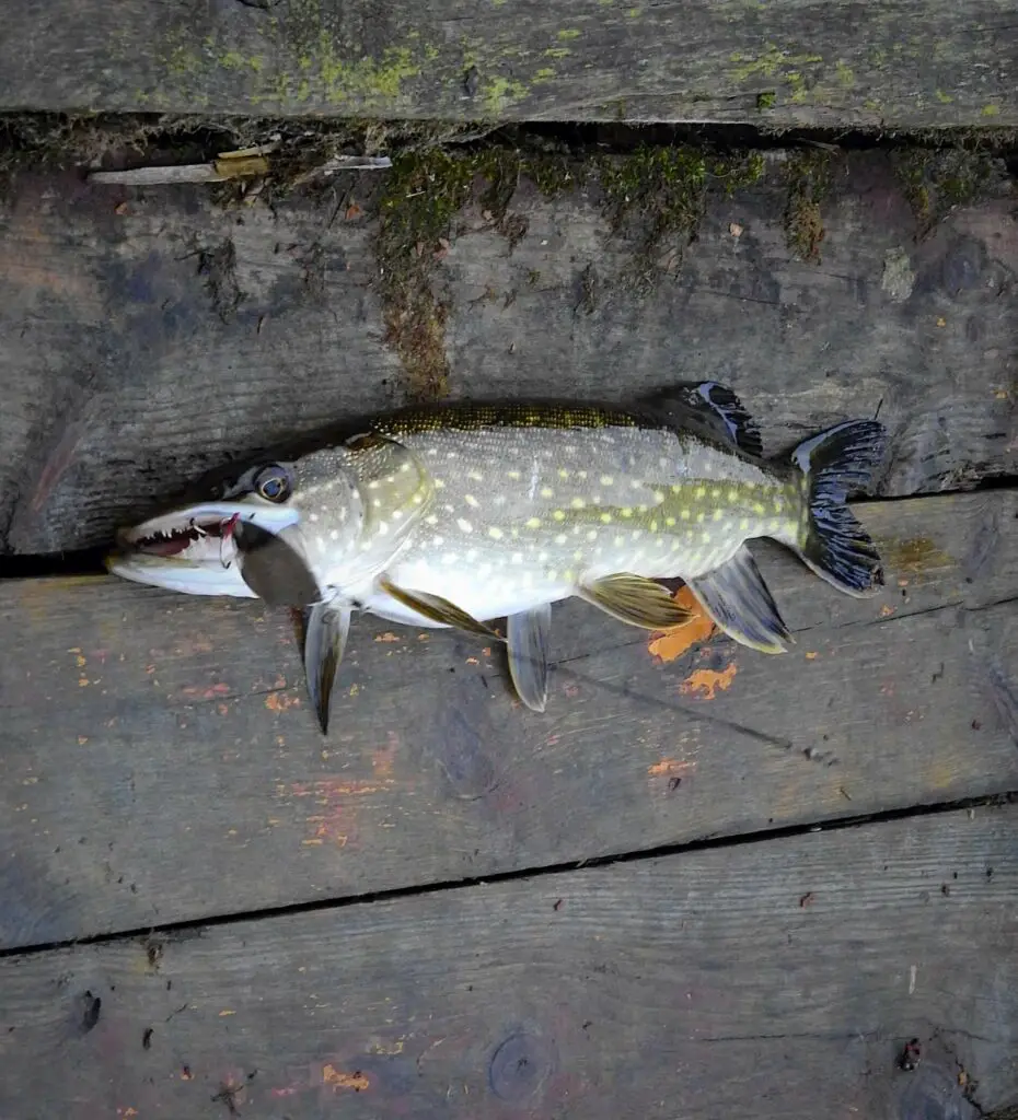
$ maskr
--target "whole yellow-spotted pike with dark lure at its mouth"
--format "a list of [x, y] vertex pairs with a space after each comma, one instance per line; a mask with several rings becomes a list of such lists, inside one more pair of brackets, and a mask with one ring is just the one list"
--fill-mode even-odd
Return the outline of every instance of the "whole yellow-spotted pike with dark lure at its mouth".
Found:
[[848, 497], [885, 444], [881, 423], [849, 420], [765, 459], [716, 382], [631, 405], [408, 408], [206, 476], [198, 500], [121, 530], [107, 567], [299, 608], [323, 732], [354, 612], [505, 643], [518, 696], [544, 711], [552, 605], [571, 596], [668, 629], [691, 616], [658, 580], [682, 579], [721, 631], [780, 653], [792, 636], [748, 541], [778, 541], [849, 595], [880, 587]]

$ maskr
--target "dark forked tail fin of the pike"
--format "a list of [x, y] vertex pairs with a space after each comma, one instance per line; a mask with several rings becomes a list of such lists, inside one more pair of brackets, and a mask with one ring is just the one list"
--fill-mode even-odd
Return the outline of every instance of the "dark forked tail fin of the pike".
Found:
[[792, 452], [806, 480], [806, 511], [796, 550], [829, 584], [853, 596], [883, 586], [877, 547], [846, 501], [871, 482], [886, 446], [876, 420], [849, 420], [804, 440]]

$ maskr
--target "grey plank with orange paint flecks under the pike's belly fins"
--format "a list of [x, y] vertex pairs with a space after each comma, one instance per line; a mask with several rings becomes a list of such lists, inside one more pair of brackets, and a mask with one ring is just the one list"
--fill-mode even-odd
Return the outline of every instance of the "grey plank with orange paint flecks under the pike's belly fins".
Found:
[[482, 641], [360, 618], [327, 740], [285, 615], [0, 585], [0, 944], [1018, 788], [1016, 493], [861, 515], [873, 599], [759, 550], [785, 656], [683, 652], [570, 604], [535, 717]]

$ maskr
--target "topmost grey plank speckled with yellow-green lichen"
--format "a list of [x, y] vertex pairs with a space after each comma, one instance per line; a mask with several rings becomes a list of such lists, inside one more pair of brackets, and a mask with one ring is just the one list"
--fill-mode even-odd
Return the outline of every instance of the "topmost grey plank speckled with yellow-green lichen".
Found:
[[1018, 124], [1011, 0], [16, 0], [7, 15], [7, 111]]

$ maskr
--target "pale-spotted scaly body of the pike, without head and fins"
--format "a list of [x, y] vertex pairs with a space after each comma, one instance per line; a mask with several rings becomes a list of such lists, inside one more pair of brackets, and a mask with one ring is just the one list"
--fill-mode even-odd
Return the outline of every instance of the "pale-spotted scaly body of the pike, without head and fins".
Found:
[[[549, 410], [543, 422], [524, 410], [501, 422], [492, 413], [444, 424], [411, 414], [382, 429], [434, 486], [389, 577], [432, 594], [452, 580], [457, 605], [476, 617], [565, 598], [577, 580], [614, 572], [688, 579], [749, 538], [799, 530], [798, 484], [732, 450], [593, 411]], [[386, 596], [365, 606], [413, 617]]]

